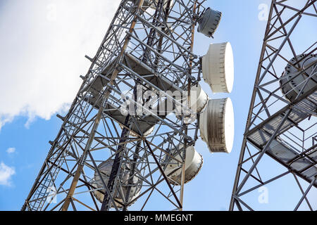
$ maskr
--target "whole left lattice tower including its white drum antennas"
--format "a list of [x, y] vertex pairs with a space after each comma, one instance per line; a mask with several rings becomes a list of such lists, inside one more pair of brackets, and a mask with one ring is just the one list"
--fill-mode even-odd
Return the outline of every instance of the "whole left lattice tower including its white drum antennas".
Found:
[[[199, 173], [199, 139], [230, 153], [233, 55], [228, 42], [193, 53], [221, 13], [196, 0], [123, 0], [22, 210], [182, 210]], [[156, 207], [149, 208], [152, 198]]]

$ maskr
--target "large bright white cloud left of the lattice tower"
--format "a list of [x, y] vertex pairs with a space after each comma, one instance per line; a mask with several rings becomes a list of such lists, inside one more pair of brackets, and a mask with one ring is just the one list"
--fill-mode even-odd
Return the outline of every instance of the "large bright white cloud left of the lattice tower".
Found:
[[49, 120], [73, 102], [119, 0], [7, 1], [0, 13], [0, 129]]

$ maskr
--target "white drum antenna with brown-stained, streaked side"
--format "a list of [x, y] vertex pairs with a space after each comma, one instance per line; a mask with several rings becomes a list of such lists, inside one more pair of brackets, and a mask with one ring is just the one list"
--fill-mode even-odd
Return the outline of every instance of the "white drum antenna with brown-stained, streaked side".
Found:
[[230, 153], [235, 136], [235, 118], [230, 98], [209, 100], [199, 118], [200, 136], [211, 153]]

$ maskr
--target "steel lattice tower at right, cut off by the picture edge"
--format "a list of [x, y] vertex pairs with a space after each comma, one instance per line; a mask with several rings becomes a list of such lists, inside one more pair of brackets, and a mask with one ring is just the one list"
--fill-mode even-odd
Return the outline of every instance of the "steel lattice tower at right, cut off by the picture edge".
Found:
[[[316, 0], [272, 1], [230, 210], [256, 210], [246, 196], [286, 177], [290, 182], [271, 186], [274, 191], [271, 188], [270, 193], [281, 196], [287, 190], [297, 190], [298, 195], [287, 197], [287, 202], [294, 200], [292, 209], [316, 210], [316, 197], [309, 198], [309, 193], [317, 188], [317, 44], [316, 36], [303, 32], [314, 29], [309, 24], [316, 24], [316, 17]], [[314, 58], [313, 62], [302, 67], [309, 58]], [[285, 93], [294, 80], [285, 80], [287, 73], [294, 68], [293, 78], [305, 79]], [[286, 97], [290, 93], [295, 93], [291, 100]], [[266, 164], [268, 160], [271, 164]], [[283, 210], [280, 204], [275, 207]]]

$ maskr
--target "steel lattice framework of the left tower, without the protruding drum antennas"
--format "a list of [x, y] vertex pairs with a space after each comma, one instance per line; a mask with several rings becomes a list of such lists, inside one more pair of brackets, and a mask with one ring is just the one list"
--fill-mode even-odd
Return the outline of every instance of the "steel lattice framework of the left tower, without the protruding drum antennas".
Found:
[[[92, 65], [68, 114], [58, 115], [63, 125], [22, 210], [128, 210], [133, 203], [135, 210], [152, 210], [151, 198], [161, 199], [156, 210], [182, 210], [182, 146], [197, 141], [199, 123], [153, 108], [167, 101], [173, 108], [182, 105], [161, 93], [188, 91], [200, 79], [200, 59], [192, 49], [202, 2], [120, 3], [96, 56], [87, 56]], [[154, 96], [139, 101], [137, 89]], [[123, 113], [122, 105], [130, 103], [143, 113]], [[96, 174], [106, 176], [102, 163], [112, 169], [108, 184], [101, 179], [98, 188]], [[179, 183], [165, 174], [172, 163], [175, 171], [182, 169]]]

